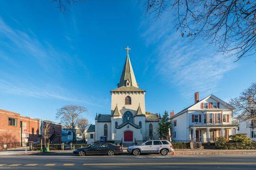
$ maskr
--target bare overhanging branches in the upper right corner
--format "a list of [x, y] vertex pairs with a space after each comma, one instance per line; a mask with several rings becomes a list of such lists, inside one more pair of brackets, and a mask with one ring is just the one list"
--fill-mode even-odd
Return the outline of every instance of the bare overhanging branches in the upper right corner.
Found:
[[147, 0], [156, 19], [165, 10], [174, 12], [182, 37], [202, 37], [235, 61], [256, 53], [256, 0]]

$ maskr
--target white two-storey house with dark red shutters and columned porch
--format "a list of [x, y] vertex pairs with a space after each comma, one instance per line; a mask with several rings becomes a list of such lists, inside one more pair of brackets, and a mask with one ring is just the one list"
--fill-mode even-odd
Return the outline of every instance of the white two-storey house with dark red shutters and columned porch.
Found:
[[199, 92], [196, 92], [194, 104], [175, 115], [171, 112], [172, 140], [206, 143], [219, 136], [228, 139], [237, 133], [238, 125], [233, 124], [234, 109], [212, 94], [199, 101]]

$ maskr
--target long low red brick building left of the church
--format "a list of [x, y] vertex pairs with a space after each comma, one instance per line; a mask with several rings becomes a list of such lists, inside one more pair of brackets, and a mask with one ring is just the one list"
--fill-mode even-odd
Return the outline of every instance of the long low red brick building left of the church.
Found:
[[40, 142], [43, 139], [43, 124], [46, 122], [50, 124], [50, 141], [61, 142], [61, 124], [23, 117], [18, 113], [0, 109], [0, 143], [25, 143], [24, 129], [27, 129], [29, 142]]

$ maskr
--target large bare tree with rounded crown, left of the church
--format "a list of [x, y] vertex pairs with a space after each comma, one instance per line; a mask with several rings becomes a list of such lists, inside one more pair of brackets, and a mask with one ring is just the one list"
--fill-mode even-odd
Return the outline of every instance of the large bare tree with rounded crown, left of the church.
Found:
[[75, 142], [75, 125], [77, 124], [77, 120], [80, 118], [81, 113], [88, 112], [87, 108], [83, 106], [76, 105], [65, 105], [60, 109], [57, 109], [56, 119], [60, 119], [60, 121], [67, 126], [72, 126], [73, 133], [73, 142]]

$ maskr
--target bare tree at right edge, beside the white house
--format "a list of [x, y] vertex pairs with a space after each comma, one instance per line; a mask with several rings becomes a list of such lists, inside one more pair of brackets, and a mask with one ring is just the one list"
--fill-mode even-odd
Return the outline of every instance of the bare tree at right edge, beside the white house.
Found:
[[230, 99], [229, 104], [236, 108], [239, 120], [256, 119], [256, 82], [245, 89], [240, 96]]

